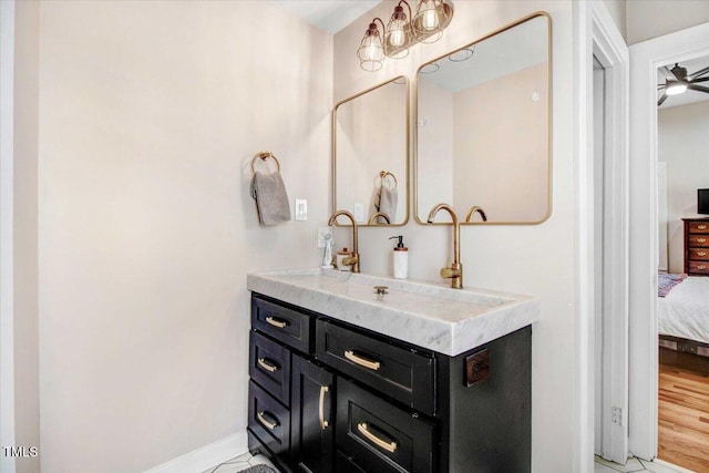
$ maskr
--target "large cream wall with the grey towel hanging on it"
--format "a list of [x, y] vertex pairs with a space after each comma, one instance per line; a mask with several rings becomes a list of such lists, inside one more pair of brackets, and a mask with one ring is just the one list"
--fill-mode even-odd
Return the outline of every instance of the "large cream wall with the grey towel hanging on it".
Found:
[[[40, 51], [42, 472], [245, 434], [246, 274], [319, 263], [331, 35], [257, 1], [48, 1]], [[259, 227], [261, 150], [308, 222]]]

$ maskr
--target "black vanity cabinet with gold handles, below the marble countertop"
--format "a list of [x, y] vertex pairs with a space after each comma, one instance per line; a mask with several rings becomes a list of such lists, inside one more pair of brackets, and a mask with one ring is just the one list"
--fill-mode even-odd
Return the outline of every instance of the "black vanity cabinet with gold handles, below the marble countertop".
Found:
[[531, 333], [449, 357], [253, 294], [249, 450], [284, 472], [528, 472]]

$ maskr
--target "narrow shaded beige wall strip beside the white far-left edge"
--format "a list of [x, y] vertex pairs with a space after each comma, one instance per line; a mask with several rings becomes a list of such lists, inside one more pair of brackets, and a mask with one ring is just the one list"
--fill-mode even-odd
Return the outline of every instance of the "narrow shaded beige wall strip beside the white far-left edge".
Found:
[[[14, 71], [14, 357], [16, 445], [40, 445], [38, 309], [39, 2], [17, 2]], [[38, 472], [21, 457], [17, 472]]]

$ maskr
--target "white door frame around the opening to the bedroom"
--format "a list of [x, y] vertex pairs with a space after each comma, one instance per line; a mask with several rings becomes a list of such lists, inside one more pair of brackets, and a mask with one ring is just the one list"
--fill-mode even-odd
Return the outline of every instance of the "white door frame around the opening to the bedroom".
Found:
[[[709, 23], [630, 47], [629, 448], [657, 456], [657, 68], [709, 55]], [[649, 290], [648, 290], [649, 289]]]

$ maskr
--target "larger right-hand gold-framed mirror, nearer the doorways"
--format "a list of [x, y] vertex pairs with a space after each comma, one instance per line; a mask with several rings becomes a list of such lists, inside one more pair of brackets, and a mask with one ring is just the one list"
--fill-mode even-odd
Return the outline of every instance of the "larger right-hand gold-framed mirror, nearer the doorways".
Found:
[[414, 214], [448, 203], [464, 224], [552, 213], [552, 23], [534, 13], [417, 74]]

